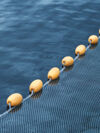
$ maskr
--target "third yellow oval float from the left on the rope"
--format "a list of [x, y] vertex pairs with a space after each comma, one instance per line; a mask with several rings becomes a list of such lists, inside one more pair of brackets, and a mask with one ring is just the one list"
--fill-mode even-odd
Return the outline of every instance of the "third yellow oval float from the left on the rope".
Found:
[[55, 80], [59, 77], [60, 75], [60, 70], [57, 67], [53, 67], [49, 72], [48, 72], [48, 79]]

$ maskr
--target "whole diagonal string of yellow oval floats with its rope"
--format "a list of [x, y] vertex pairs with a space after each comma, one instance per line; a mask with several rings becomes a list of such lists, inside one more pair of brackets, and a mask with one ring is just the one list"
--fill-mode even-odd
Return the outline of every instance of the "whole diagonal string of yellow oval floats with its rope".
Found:
[[91, 35], [88, 38], [88, 42], [89, 45], [86, 47], [85, 45], [79, 45], [76, 47], [75, 49], [75, 54], [76, 57], [72, 58], [71, 56], [66, 56], [62, 59], [62, 69], [60, 70], [57, 67], [53, 67], [52, 69], [50, 69], [50, 71], [48, 72], [48, 81], [46, 81], [44, 84], [42, 82], [42, 80], [40, 79], [36, 79], [34, 80], [30, 86], [29, 86], [29, 92], [31, 93], [30, 95], [28, 95], [26, 98], [23, 99], [23, 96], [19, 93], [14, 93], [12, 95], [10, 95], [7, 98], [7, 105], [9, 107], [9, 109], [7, 111], [5, 111], [4, 113], [0, 114], [0, 118], [7, 115], [10, 111], [12, 111], [16, 106], [19, 106], [20, 104], [22, 104], [23, 102], [25, 102], [27, 99], [29, 99], [33, 94], [41, 91], [42, 88], [44, 88], [46, 85], [48, 85], [52, 80], [55, 80], [57, 78], [59, 78], [60, 73], [62, 73], [66, 67], [70, 67], [74, 64], [74, 62], [82, 55], [85, 54], [85, 52], [92, 46], [92, 45], [96, 45], [98, 43], [100, 39], [100, 29], [99, 29], [99, 36], [96, 35]]

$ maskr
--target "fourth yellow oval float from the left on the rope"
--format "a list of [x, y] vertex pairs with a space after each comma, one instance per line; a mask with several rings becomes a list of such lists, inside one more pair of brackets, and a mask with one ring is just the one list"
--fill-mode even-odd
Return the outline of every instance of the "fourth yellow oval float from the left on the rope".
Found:
[[66, 56], [62, 59], [62, 65], [64, 66], [72, 66], [74, 63], [74, 59], [71, 56]]

